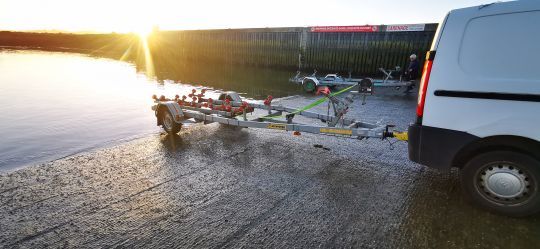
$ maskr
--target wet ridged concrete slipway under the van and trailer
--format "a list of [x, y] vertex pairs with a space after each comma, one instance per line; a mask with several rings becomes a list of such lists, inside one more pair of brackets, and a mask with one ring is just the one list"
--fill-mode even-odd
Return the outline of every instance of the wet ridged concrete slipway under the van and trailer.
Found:
[[[404, 129], [415, 100], [371, 97], [349, 116]], [[539, 245], [538, 216], [471, 206], [457, 171], [409, 162], [402, 142], [194, 125], [0, 175], [2, 248]]]

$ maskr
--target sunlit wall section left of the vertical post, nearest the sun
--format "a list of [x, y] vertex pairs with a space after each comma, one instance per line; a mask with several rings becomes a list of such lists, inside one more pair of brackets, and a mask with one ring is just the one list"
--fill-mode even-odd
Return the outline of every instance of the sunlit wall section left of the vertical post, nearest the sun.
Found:
[[178, 59], [296, 69], [298, 29], [245, 29], [160, 32], [150, 41], [159, 55]]

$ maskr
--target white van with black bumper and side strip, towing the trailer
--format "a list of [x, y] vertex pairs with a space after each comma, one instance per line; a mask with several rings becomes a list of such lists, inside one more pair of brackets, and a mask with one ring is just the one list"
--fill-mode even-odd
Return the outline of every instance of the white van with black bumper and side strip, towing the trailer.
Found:
[[491, 211], [540, 211], [540, 1], [448, 13], [424, 65], [409, 157], [460, 168], [463, 191]]

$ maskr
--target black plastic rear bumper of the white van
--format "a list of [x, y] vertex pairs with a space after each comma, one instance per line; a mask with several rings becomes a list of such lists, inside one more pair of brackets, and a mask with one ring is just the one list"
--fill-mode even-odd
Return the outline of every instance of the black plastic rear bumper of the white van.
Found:
[[436, 169], [449, 169], [457, 153], [478, 137], [469, 133], [411, 124], [409, 159]]

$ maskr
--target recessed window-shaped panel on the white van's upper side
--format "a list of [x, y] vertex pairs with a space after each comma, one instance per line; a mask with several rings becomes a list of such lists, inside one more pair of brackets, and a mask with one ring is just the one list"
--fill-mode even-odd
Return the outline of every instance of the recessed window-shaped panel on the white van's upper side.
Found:
[[459, 63], [482, 78], [540, 79], [540, 11], [484, 16], [465, 28]]

